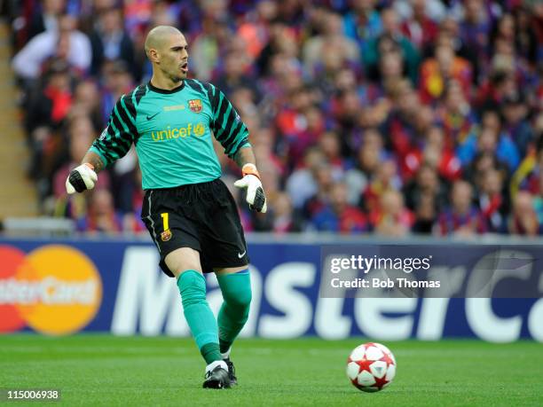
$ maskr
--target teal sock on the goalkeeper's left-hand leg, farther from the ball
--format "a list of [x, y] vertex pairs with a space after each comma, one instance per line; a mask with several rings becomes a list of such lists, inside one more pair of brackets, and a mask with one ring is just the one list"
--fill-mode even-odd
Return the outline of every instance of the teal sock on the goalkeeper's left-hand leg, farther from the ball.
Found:
[[206, 280], [196, 270], [186, 270], [177, 279], [185, 319], [207, 364], [222, 360], [216, 319], [206, 301]]

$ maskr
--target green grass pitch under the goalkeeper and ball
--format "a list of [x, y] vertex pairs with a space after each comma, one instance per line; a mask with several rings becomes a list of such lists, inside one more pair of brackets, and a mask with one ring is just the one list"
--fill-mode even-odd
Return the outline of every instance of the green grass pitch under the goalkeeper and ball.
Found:
[[543, 405], [543, 344], [385, 341], [397, 358], [396, 379], [366, 394], [345, 375], [350, 350], [365, 341], [238, 340], [239, 386], [208, 390], [189, 339], [7, 335], [0, 336], [0, 388], [59, 388], [60, 404], [91, 406]]

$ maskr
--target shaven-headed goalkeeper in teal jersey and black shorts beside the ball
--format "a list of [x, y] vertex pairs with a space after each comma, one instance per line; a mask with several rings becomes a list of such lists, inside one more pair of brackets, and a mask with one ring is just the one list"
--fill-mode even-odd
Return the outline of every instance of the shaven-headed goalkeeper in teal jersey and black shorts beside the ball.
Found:
[[[153, 64], [150, 82], [117, 101], [106, 129], [68, 176], [67, 192], [92, 189], [100, 170], [136, 146], [146, 192], [142, 220], [161, 270], [176, 278], [186, 322], [207, 364], [203, 387], [230, 387], [237, 383], [230, 350], [247, 322], [251, 287], [240, 216], [219, 179], [212, 133], [240, 166], [243, 177], [234, 185], [247, 189], [251, 209], [266, 211], [264, 191], [240, 115], [215, 86], [187, 79], [185, 36], [175, 27], [154, 27], [145, 47]], [[224, 298], [217, 319], [202, 274], [211, 271]]]

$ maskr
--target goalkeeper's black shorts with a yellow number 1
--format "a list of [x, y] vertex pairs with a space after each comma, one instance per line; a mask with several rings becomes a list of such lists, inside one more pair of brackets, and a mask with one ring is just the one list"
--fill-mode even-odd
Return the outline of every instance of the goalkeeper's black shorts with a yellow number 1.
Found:
[[161, 270], [174, 277], [164, 258], [179, 247], [200, 252], [203, 272], [248, 264], [238, 207], [220, 180], [147, 190], [141, 218], [161, 254]]

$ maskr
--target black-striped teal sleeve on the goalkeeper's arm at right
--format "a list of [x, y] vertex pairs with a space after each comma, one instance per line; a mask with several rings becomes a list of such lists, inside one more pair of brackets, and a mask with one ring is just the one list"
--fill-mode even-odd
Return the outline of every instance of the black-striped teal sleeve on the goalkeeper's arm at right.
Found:
[[221, 90], [208, 83], [209, 103], [213, 111], [211, 129], [216, 140], [223, 145], [224, 153], [232, 158], [240, 147], [248, 145], [248, 129], [240, 114]]

